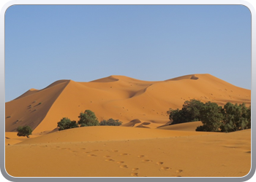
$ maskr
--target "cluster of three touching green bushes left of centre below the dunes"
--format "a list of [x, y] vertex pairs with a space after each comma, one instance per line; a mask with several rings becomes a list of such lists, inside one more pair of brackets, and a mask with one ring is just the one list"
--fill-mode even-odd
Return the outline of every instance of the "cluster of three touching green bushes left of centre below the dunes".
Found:
[[102, 120], [101, 122], [98, 121], [97, 117], [95, 116], [93, 111], [86, 110], [83, 113], [80, 113], [78, 116], [79, 120], [71, 121], [69, 118], [64, 117], [58, 122], [59, 130], [67, 130], [69, 128], [74, 127], [89, 127], [89, 126], [99, 126], [99, 125], [110, 125], [110, 126], [119, 126], [122, 122], [119, 122], [118, 119], [108, 119]]

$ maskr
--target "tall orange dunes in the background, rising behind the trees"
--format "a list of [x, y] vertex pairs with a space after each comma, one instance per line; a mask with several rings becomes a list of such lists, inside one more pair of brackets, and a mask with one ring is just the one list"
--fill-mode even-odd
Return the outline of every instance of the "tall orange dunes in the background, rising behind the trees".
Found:
[[[169, 122], [166, 111], [181, 108], [185, 100], [195, 98], [220, 105], [227, 102], [249, 105], [250, 97], [250, 90], [210, 74], [181, 76], [162, 82], [127, 76], [108, 76], [92, 82], [64, 80], [44, 90], [30, 90], [6, 103], [5, 130], [12, 132], [19, 125], [28, 124], [34, 129], [34, 135], [50, 132], [63, 117], [78, 121], [78, 115], [86, 109], [94, 111], [99, 121], [113, 118], [125, 125], [139, 119], [147, 123], [140, 123], [140, 127], [157, 128]], [[33, 103], [34, 100], [37, 102]], [[37, 105], [39, 102], [41, 104]]]

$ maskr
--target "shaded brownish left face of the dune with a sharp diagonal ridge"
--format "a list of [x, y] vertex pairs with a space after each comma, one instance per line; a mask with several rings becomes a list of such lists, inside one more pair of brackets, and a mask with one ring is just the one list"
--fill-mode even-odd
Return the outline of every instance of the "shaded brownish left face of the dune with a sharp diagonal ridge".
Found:
[[5, 130], [13, 132], [18, 126], [24, 125], [29, 125], [34, 130], [68, 83], [68, 80], [58, 81], [43, 90], [26, 92], [5, 103]]

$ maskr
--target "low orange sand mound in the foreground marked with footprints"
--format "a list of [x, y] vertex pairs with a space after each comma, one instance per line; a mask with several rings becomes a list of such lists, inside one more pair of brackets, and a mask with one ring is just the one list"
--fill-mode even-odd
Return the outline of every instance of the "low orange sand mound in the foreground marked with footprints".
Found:
[[16, 177], [241, 177], [251, 167], [250, 135], [82, 127], [6, 146], [5, 166]]

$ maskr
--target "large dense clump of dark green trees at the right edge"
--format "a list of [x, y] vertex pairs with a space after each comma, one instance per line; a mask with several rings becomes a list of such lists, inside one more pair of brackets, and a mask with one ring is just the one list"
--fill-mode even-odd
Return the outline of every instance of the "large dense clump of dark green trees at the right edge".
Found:
[[233, 132], [251, 128], [251, 106], [244, 103], [202, 103], [200, 100], [187, 100], [181, 110], [170, 108], [167, 111], [171, 124], [201, 121], [196, 131]]

